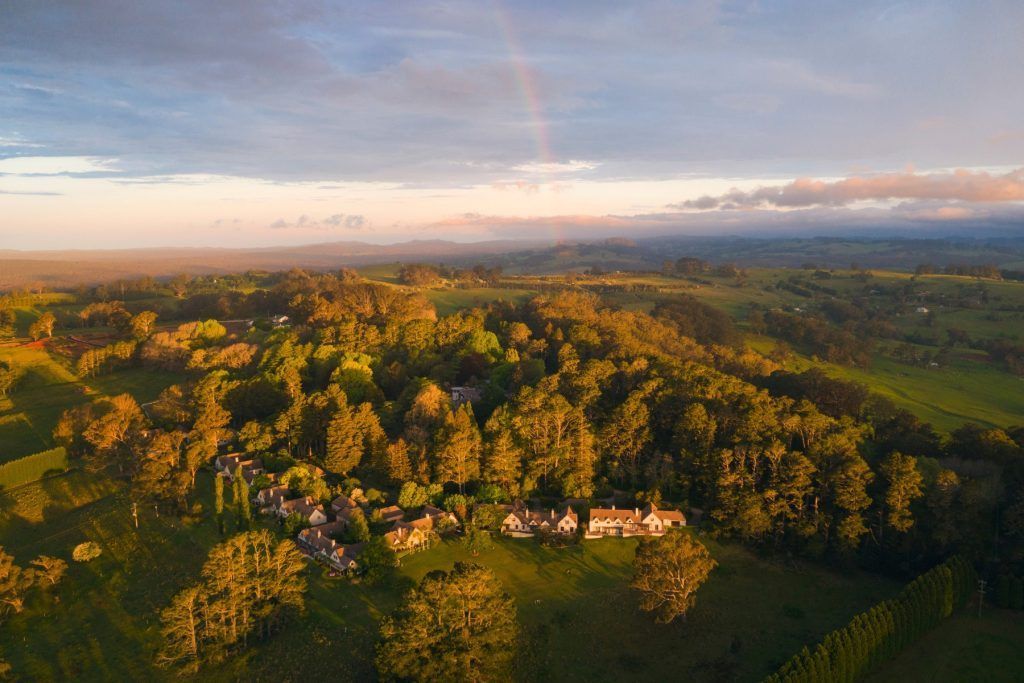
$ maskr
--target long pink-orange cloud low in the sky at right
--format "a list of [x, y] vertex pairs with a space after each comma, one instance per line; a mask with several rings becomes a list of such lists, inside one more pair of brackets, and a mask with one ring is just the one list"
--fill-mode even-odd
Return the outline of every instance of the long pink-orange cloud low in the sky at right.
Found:
[[825, 181], [798, 178], [784, 185], [743, 191], [731, 189], [670, 205], [674, 209], [791, 209], [840, 207], [862, 201], [945, 200], [963, 202], [1018, 202], [1024, 200], [1024, 168], [1002, 175], [958, 169], [952, 173], [913, 172], [854, 176]]

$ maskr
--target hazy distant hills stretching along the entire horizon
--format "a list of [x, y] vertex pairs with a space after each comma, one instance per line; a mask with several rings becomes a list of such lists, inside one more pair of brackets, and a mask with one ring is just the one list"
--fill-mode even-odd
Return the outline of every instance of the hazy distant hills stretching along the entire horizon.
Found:
[[151, 248], [125, 250], [0, 250], [0, 291], [32, 284], [69, 288], [119, 279], [177, 273], [212, 274], [301, 267], [332, 270], [378, 263], [501, 265], [508, 272], [553, 273], [587, 268], [658, 269], [666, 260], [694, 256], [741, 266], [912, 269], [919, 263], [995, 264], [1024, 270], [1024, 238], [752, 238], [666, 237], [593, 241], [457, 243], [444, 240], [372, 245], [332, 242], [298, 247]]

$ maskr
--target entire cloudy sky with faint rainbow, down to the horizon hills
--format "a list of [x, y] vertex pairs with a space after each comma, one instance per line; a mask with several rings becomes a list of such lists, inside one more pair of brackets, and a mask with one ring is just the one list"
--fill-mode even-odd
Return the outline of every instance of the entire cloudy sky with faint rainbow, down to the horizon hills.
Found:
[[0, 249], [1024, 229], [1024, 3], [0, 2]]

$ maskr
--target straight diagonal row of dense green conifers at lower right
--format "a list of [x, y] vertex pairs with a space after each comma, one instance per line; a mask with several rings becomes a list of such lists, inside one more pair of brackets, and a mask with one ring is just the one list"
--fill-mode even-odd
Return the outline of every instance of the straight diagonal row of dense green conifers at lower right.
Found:
[[963, 606], [974, 591], [974, 567], [954, 556], [910, 582], [895, 598], [857, 614], [813, 649], [804, 647], [765, 683], [851, 683]]

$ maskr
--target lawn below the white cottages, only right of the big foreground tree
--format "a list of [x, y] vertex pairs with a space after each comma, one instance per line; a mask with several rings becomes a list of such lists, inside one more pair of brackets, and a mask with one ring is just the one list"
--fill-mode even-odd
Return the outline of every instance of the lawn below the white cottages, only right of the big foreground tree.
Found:
[[[673, 625], [656, 625], [637, 608], [628, 587], [634, 540], [559, 550], [508, 540], [476, 561], [516, 596], [534, 653], [522, 678], [537, 681], [759, 680], [897, 588], [866, 574], [788, 567], [740, 546], [703, 541], [720, 566], [687, 620]], [[403, 572], [419, 579], [450, 559], [468, 559], [460, 546], [441, 551], [412, 558]]]

